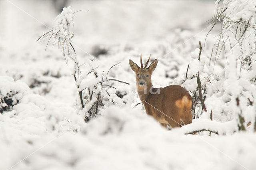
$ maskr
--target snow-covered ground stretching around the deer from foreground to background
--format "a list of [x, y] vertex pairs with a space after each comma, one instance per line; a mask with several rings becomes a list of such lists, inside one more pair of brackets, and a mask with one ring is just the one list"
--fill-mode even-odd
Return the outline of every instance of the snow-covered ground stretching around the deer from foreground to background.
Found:
[[[190, 126], [168, 131], [148, 117], [141, 105], [134, 107], [140, 99], [128, 59], [139, 63], [140, 53], [144, 61], [150, 54], [158, 58], [152, 75], [155, 87], [179, 82], [188, 63], [194, 62], [191, 55], [199, 40], [204, 44], [210, 30], [206, 21], [215, 14], [214, 2], [70, 0], [68, 6], [73, 11], [88, 10], [76, 12], [72, 26], [78, 61], [95, 58], [96, 67], [105, 71], [121, 62], [110, 76], [130, 85], [111, 85], [127, 93], [122, 99], [126, 104], [105, 105], [100, 109], [102, 116], [85, 123], [76, 106], [72, 60], [67, 65], [57, 45], [49, 43], [45, 50], [47, 40], [36, 42], [52, 28], [59, 12], [48, 0], [0, 1], [0, 91], [15, 91], [12, 99], [18, 101], [11, 111], [0, 114], [1, 170], [255, 169], [256, 134], [233, 134], [228, 128], [234, 123], [229, 112], [221, 115], [216, 109], [213, 114], [215, 123], [228, 121], [217, 128], [226, 135], [184, 135]], [[203, 45], [205, 62], [216, 32]], [[220, 75], [225, 65], [226, 58], [220, 57], [214, 74]], [[187, 87], [194, 88], [188, 83]], [[211, 100], [223, 104], [217, 103], [217, 95], [207, 97], [209, 108], [214, 107]], [[246, 112], [251, 110], [248, 107]], [[200, 119], [193, 123], [212, 126]]]

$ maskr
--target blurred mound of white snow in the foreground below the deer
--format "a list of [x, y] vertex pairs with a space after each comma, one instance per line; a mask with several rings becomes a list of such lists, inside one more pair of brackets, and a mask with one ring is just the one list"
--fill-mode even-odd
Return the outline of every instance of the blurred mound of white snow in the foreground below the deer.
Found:
[[[22, 131], [23, 135], [12, 138], [6, 133], [2, 143], [7, 140], [9, 144], [1, 145], [1, 153], [5, 153], [2, 160], [6, 160], [6, 154], [12, 159], [1, 164], [1, 169], [10, 168], [36, 150], [13, 169], [81, 169], [85, 166], [88, 169], [215, 169], [223, 166], [253, 169], [255, 166], [254, 134], [184, 136], [178, 129], [178, 132], [164, 130], [140, 109], [109, 107], [103, 111], [102, 117], [84, 124], [80, 133], [47, 134], [40, 132], [37, 124], [31, 124], [30, 128], [40, 136], [32, 135], [28, 129], [16, 129], [17, 134]], [[5, 132], [10, 130], [10, 125], [8, 120], [4, 122]]]

